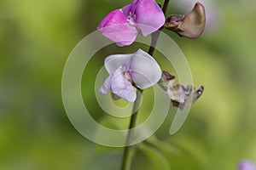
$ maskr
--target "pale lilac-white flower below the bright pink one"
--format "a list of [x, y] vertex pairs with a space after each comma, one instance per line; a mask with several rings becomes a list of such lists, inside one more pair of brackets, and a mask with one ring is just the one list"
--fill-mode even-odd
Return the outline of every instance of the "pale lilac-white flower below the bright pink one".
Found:
[[156, 84], [161, 77], [160, 66], [149, 54], [138, 49], [134, 54], [114, 54], [108, 56], [104, 65], [109, 73], [100, 88], [101, 94], [113, 94], [129, 102], [137, 98], [133, 87], [145, 89]]

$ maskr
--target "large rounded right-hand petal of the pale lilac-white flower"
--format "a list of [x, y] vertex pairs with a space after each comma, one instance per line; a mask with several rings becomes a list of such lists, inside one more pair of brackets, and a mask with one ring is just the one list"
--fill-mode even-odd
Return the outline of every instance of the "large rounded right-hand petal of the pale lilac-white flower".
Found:
[[131, 59], [131, 79], [138, 88], [145, 89], [160, 80], [161, 69], [157, 62], [142, 49], [138, 49]]

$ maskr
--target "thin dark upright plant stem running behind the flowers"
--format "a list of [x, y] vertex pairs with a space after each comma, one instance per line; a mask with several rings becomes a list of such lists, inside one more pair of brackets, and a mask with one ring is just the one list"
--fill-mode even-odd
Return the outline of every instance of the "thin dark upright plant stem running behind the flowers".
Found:
[[[165, 0], [165, 3], [163, 5], [163, 13], [166, 14], [166, 10], [168, 7], [170, 0]], [[153, 55], [154, 54], [154, 47], [156, 45], [156, 42], [158, 40], [158, 37], [160, 35], [160, 31], [163, 29], [163, 26], [159, 29], [159, 31], [155, 31], [154, 33], [151, 34], [151, 44], [150, 48], [148, 49], [148, 54]], [[141, 93], [141, 94], [139, 94]], [[132, 115], [131, 115], [131, 121], [129, 125], [129, 129], [132, 129], [136, 125], [136, 119], [137, 119], [137, 112], [139, 111], [137, 108], [139, 107], [141, 100], [143, 96], [143, 90], [137, 89], [137, 99], [134, 102], [133, 108], [132, 108]], [[135, 112], [136, 111], [136, 112]], [[121, 170], [125, 170], [127, 167], [127, 162], [129, 161], [129, 153], [131, 152], [131, 139], [132, 139], [132, 133], [129, 130], [127, 137], [126, 137], [126, 144], [125, 144], [125, 150], [124, 150], [124, 155], [123, 155], [123, 161], [121, 165]], [[129, 144], [129, 145], [128, 145]]]

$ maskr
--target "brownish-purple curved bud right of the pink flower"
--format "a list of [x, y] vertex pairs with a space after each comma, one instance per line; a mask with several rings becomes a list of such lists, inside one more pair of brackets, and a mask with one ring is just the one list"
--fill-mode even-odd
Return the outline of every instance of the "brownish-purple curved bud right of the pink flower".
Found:
[[200, 37], [206, 26], [205, 8], [201, 3], [195, 3], [188, 14], [169, 16], [164, 26], [181, 37]]

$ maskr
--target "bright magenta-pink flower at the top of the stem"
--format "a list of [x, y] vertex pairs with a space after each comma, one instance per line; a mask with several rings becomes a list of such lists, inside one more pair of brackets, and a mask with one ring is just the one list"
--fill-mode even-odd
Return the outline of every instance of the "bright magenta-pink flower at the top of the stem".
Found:
[[146, 37], [163, 26], [165, 21], [165, 15], [154, 0], [134, 0], [109, 13], [97, 29], [119, 46], [126, 46], [135, 41], [138, 33]]

